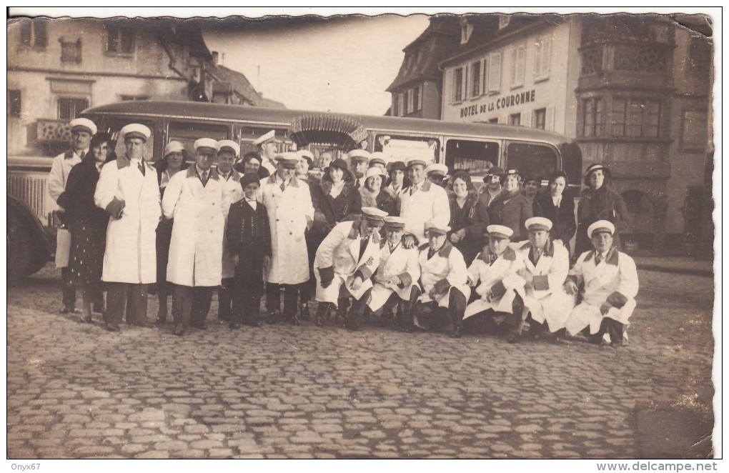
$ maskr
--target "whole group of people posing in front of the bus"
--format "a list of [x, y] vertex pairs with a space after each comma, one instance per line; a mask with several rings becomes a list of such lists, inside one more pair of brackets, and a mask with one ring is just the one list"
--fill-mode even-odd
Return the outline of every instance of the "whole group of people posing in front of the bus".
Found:
[[380, 311], [405, 332], [440, 327], [461, 337], [481, 321], [510, 342], [528, 327], [623, 343], [638, 281], [619, 250], [628, 214], [604, 165], [585, 173], [576, 222], [561, 171], [531, 192], [540, 179], [525, 186], [519, 171], [494, 167], [479, 193], [467, 171], [449, 175], [417, 156], [389, 163], [364, 149], [329, 160], [316, 179], [313, 154], [277, 153], [273, 131], [242, 159], [235, 141], [199, 138], [194, 156], [170, 141], [154, 164], [146, 126], [122, 128], [119, 156], [96, 132], [73, 120], [72, 147], [48, 179], [63, 216], [61, 312], [75, 311], [78, 288], [81, 321], [97, 312], [112, 332], [124, 316], [153, 327], [153, 284], [157, 324], [172, 296], [174, 335], [207, 328], [217, 291], [218, 317], [231, 329], [300, 324], [313, 299], [319, 326], [335, 313], [359, 329]]

